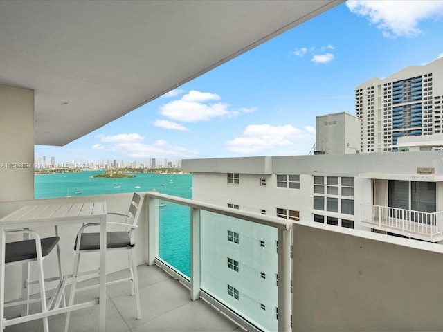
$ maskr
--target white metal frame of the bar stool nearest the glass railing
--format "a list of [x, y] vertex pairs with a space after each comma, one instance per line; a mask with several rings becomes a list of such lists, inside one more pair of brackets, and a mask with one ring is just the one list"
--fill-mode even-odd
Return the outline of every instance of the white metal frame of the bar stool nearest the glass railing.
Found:
[[[137, 260], [136, 260], [136, 248], [135, 248], [135, 235], [134, 230], [138, 228], [137, 221], [138, 221], [138, 215], [141, 212], [141, 205], [143, 204], [143, 198], [140, 194], [134, 193], [132, 196], [132, 201], [129, 205], [129, 210], [127, 214], [120, 213], [120, 212], [108, 212], [108, 215], [114, 215], [114, 216], [120, 216], [125, 219], [125, 222], [111, 222], [107, 221], [107, 225], [117, 225], [121, 228], [124, 228], [126, 231], [126, 237], [129, 239], [127, 243], [113, 243], [113, 241], [109, 238], [110, 235], [113, 233], [120, 233], [123, 234], [123, 232], [107, 232], [107, 248], [106, 250], [128, 250], [128, 265], [129, 265], [129, 273], [130, 276], [123, 279], [118, 279], [113, 282], [107, 282], [106, 286], [111, 284], [117, 284], [120, 282], [131, 282], [131, 295], [135, 295], [136, 299], [136, 311], [137, 311], [137, 320], [141, 319], [141, 307], [140, 307], [140, 297], [138, 295], [138, 277], [137, 277]], [[87, 228], [99, 226], [100, 223], [86, 223], [82, 225], [82, 228], [78, 231], [77, 239], [75, 239], [75, 258], [74, 258], [74, 267], [73, 267], [73, 274], [72, 274], [72, 283], [71, 283], [71, 291], [69, 295], [69, 306], [72, 306], [74, 304], [75, 299], [75, 293], [79, 291], [87, 291], [91, 288], [96, 288], [98, 285], [94, 286], [85, 286], [82, 288], [76, 288], [78, 277], [81, 275], [98, 275], [100, 273], [100, 270], [91, 270], [87, 272], [79, 273], [79, 266], [80, 266], [80, 254], [86, 253], [86, 252], [98, 252], [100, 250], [100, 233], [89, 233], [84, 232]], [[83, 238], [89, 237], [89, 235], [92, 235], [92, 243], [89, 243], [92, 248], [84, 249], [82, 247], [84, 243], [82, 243], [82, 235]], [[119, 235], [119, 234], [117, 234]], [[89, 239], [91, 241], [91, 239]], [[113, 245], [116, 245], [113, 247]], [[105, 271], [106, 273], [106, 271]], [[68, 312], [66, 315], [66, 325], [65, 325], [65, 332], [68, 331], [69, 327], [69, 317], [70, 313]]]

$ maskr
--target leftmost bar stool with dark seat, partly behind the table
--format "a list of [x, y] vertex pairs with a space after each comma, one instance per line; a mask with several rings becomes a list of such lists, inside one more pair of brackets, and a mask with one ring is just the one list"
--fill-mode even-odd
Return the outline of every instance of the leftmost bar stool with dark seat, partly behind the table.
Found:
[[[15, 264], [25, 264], [30, 261], [37, 261], [38, 268], [38, 280], [39, 280], [39, 291], [40, 298], [35, 300], [30, 300], [29, 296], [26, 299], [22, 299], [15, 302], [9, 302], [7, 304], [2, 303], [1, 310], [3, 311], [4, 317], [4, 308], [10, 306], [21, 306], [23, 304], [29, 304], [31, 302], [40, 302], [42, 308], [41, 312], [48, 312], [48, 306], [46, 302], [46, 290], [45, 290], [45, 279], [43, 273], [43, 261], [48, 256], [48, 254], [58, 246], [58, 242], [60, 241], [60, 237], [47, 237], [40, 238], [39, 234], [33, 230], [10, 230], [7, 231], [6, 234], [30, 234], [34, 239], [23, 240], [23, 241], [15, 241], [6, 243], [5, 246], [5, 266], [15, 265]], [[59, 257], [60, 263], [60, 257]], [[43, 317], [43, 328], [45, 332], [49, 331], [48, 327], [48, 317]], [[18, 324], [21, 322], [20, 318], [13, 318], [11, 320], [4, 320], [3, 326], [9, 326], [12, 324]]]

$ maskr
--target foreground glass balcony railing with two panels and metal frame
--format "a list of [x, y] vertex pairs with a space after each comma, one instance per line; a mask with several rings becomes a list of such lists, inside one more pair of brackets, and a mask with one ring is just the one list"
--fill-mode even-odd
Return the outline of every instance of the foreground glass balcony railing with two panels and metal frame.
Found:
[[287, 219], [148, 192], [148, 263], [250, 331], [289, 331]]

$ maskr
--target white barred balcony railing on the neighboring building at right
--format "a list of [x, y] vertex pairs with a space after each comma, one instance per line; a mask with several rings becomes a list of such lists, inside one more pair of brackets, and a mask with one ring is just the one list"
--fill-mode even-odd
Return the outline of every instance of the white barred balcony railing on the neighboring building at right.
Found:
[[443, 211], [430, 213], [362, 203], [361, 222], [415, 239], [443, 240]]

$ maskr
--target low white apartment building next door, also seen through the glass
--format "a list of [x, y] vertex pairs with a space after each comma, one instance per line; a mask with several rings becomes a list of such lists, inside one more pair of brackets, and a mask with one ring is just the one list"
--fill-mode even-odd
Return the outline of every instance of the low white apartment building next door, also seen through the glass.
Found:
[[[195, 201], [438, 242], [443, 240], [442, 161], [440, 151], [419, 151], [192, 159], [182, 167], [193, 174]], [[266, 315], [264, 327], [275, 329], [275, 292], [263, 291], [278, 284], [275, 232], [235, 219], [210, 228], [203, 223], [201, 232], [202, 239], [210, 239], [202, 243], [210, 248], [202, 252], [202, 265], [210, 266], [202, 283], [210, 280], [208, 288], [217, 289], [217, 297], [236, 302], [249, 317]]]

